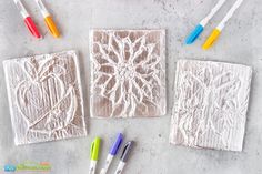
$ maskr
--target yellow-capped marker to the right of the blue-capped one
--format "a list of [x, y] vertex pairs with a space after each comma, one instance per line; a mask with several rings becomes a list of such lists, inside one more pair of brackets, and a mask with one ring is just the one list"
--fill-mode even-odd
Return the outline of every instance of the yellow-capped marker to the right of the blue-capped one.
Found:
[[222, 21], [219, 23], [219, 25], [213, 30], [213, 32], [210, 34], [210, 37], [206, 39], [206, 41], [203, 44], [203, 49], [208, 50], [213, 45], [213, 43], [218, 40], [219, 35], [221, 34], [221, 31], [225, 27], [225, 23], [230, 20], [230, 18], [233, 16], [236, 9], [242, 4], [243, 0], [236, 0], [232, 8], [229, 10], [229, 12], [225, 14], [225, 17], [222, 19]]

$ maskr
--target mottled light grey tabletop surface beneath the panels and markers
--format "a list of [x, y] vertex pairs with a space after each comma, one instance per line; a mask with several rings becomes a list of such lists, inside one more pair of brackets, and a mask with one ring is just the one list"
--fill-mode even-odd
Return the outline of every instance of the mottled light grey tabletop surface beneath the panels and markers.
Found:
[[[53, 39], [32, 0], [26, 0], [38, 21], [43, 40], [32, 38], [12, 0], [0, 0], [0, 59], [75, 49], [80, 52], [85, 100], [87, 137], [14, 146], [7, 100], [3, 69], [0, 66], [0, 166], [27, 160], [48, 161], [52, 174], [84, 174], [89, 167], [92, 139], [100, 135], [103, 165], [114, 135], [123, 131], [125, 140], [137, 141], [125, 172], [129, 174], [261, 174], [262, 173], [262, 0], [245, 0], [209, 51], [201, 44], [234, 2], [214, 17], [195, 44], [183, 44], [185, 35], [214, 6], [211, 0], [46, 0], [63, 37]], [[168, 114], [159, 119], [89, 119], [89, 30], [167, 29]], [[246, 134], [242, 153], [194, 150], [170, 145], [170, 113], [173, 99], [175, 61], [179, 59], [215, 60], [251, 65], [254, 70]], [[119, 157], [119, 156], [118, 156]], [[113, 162], [114, 171], [119, 160]], [[2, 170], [0, 173], [3, 173]]]

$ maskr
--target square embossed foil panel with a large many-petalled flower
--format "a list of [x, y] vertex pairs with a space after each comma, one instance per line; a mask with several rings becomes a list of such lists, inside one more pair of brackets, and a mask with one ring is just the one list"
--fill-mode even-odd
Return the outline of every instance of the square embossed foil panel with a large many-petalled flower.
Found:
[[91, 116], [165, 114], [164, 30], [93, 30]]

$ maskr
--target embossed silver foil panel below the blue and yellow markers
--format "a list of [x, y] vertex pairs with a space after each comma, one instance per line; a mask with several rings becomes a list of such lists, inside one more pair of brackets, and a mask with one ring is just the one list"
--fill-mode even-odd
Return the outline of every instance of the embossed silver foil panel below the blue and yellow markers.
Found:
[[178, 61], [171, 143], [242, 151], [251, 76], [245, 65]]

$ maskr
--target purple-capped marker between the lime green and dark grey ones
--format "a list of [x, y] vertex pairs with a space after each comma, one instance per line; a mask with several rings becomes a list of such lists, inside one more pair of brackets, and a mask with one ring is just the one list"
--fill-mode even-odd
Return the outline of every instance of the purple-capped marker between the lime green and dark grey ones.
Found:
[[113, 143], [113, 145], [108, 154], [108, 157], [105, 161], [105, 166], [101, 170], [100, 174], [107, 174], [108, 168], [109, 168], [110, 164], [112, 163], [113, 157], [117, 155], [122, 141], [123, 141], [123, 135], [121, 133], [119, 133], [115, 142]]

